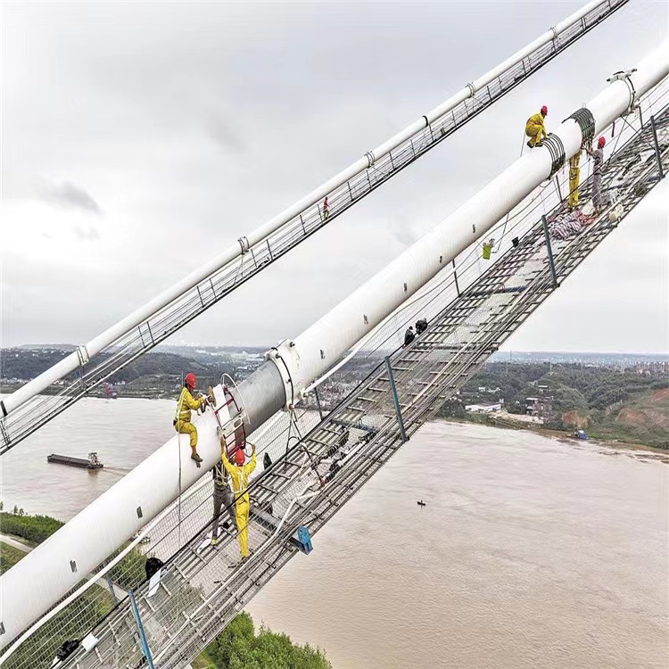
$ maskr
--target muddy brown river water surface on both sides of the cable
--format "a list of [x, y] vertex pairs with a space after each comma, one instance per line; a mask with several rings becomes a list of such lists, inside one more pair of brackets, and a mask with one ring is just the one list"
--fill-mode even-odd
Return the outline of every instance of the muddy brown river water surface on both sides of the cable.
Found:
[[[171, 436], [172, 409], [79, 402], [0, 459], [5, 508], [73, 516]], [[103, 471], [46, 463], [88, 450]], [[666, 669], [668, 490], [640, 452], [425, 425], [248, 610], [335, 669]]]

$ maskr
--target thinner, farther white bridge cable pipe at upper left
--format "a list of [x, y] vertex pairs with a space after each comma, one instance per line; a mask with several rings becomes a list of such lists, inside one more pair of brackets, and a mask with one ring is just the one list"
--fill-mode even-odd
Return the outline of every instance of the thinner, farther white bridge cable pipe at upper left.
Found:
[[[334, 191], [335, 188], [343, 186], [349, 179], [355, 177], [361, 171], [368, 169], [368, 167], [374, 164], [375, 161], [383, 157], [386, 153], [392, 151], [392, 149], [401, 145], [401, 143], [409, 139], [410, 136], [423, 130], [426, 127], [427, 122], [432, 123], [434, 120], [442, 117], [443, 114], [455, 109], [459, 103], [462, 103], [468, 97], [474, 95], [476, 90], [487, 86], [504, 71], [513, 67], [516, 63], [521, 62], [528, 55], [533, 54], [537, 48], [548, 44], [553, 39], [557, 39], [566, 29], [573, 26], [577, 21], [581, 21], [584, 16], [602, 4], [606, 4], [606, 0], [592, 0], [592, 2], [584, 5], [578, 12], [569, 16], [565, 21], [561, 21], [554, 28], [547, 30], [541, 37], [537, 37], [531, 44], [516, 52], [516, 54], [512, 55], [506, 61], [500, 63], [500, 65], [484, 74], [483, 77], [476, 79], [474, 83], [464, 87], [446, 102], [435, 107], [434, 110], [428, 112], [425, 116], [422, 116], [407, 128], [404, 128], [400, 133], [392, 136], [391, 139], [387, 140], [382, 145], [377, 146], [373, 151], [366, 153], [348, 168], [343, 169], [343, 171], [339, 172], [335, 177], [327, 180], [326, 183], [321, 186], [318, 186], [318, 188], [311, 191], [310, 194], [307, 194], [302, 197], [301, 200], [294, 202], [290, 207], [282, 211], [273, 219], [268, 220], [263, 226], [260, 226], [249, 235], [246, 235], [248, 243], [250, 245], [257, 244], [268, 235], [275, 232], [279, 227], [285, 225], [285, 223], [301, 214], [302, 211], [306, 210], [316, 202], [322, 201], [323, 198]], [[64, 376], [77, 370], [81, 364], [80, 358], [87, 361], [87, 359], [92, 358], [100, 351], [103, 351], [103, 349], [111, 345], [111, 343], [116, 342], [121, 336], [126, 335], [130, 330], [144, 323], [147, 318], [151, 318], [153, 314], [164, 309], [170, 302], [194, 288], [195, 285], [198, 285], [201, 281], [210, 277], [211, 274], [227, 265], [228, 262], [235, 260], [235, 258], [238, 258], [241, 254], [241, 245], [232, 244], [224, 252], [216, 256], [216, 258], [212, 258], [209, 262], [202, 265], [202, 267], [181, 279], [177, 284], [163, 291], [154, 297], [153, 300], [146, 302], [144, 306], [133, 311], [129, 316], [109, 327], [102, 335], [98, 335], [90, 342], [82, 344], [78, 351], [70, 353], [70, 355], [56, 363], [54, 367], [47, 369], [32, 381], [29, 381], [28, 384], [21, 386], [21, 388], [12, 392], [12, 394], [3, 401], [0, 401], [0, 419], [11, 414], [12, 411], [21, 407], [22, 404], [29, 401], [35, 395], [44, 392], [46, 388], [54, 384], [56, 381], [59, 381]]]

